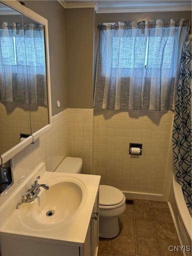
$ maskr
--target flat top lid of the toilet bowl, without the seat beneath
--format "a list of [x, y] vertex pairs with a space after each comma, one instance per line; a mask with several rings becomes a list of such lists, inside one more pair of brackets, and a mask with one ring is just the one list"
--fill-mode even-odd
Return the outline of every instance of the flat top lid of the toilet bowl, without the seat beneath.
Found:
[[124, 195], [118, 188], [100, 185], [99, 186], [99, 204], [115, 205], [123, 201]]

